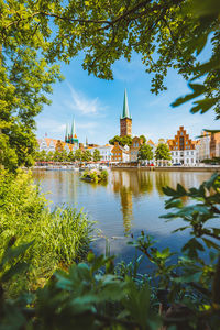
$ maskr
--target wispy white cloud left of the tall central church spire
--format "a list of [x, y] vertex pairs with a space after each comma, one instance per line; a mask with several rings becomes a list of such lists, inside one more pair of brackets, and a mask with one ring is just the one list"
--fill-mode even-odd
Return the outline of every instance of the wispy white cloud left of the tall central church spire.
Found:
[[67, 82], [67, 85], [70, 89], [72, 100], [66, 101], [66, 105], [70, 109], [81, 112], [81, 114], [95, 114], [103, 110], [99, 98], [89, 99], [81, 91], [76, 90], [70, 84]]

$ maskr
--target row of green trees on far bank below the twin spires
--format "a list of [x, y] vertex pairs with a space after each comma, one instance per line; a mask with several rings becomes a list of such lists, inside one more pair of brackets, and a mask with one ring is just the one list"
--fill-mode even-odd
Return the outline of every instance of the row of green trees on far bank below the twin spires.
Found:
[[80, 148], [69, 153], [66, 150], [63, 151], [50, 151], [46, 153], [45, 150], [35, 152], [35, 162], [99, 162], [101, 160], [100, 151], [95, 148], [94, 154], [88, 150], [82, 151]]

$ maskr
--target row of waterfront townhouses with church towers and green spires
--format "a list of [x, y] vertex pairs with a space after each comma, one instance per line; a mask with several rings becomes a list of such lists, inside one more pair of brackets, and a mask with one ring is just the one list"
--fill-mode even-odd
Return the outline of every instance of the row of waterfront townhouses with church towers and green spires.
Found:
[[[123, 111], [120, 117], [120, 136], [132, 136], [132, 117], [129, 111], [127, 90], [124, 91]], [[184, 127], [180, 127], [174, 139], [160, 139], [158, 143], [155, 144], [152, 140], [148, 140], [146, 144], [152, 147], [153, 154], [160, 143], [165, 143], [169, 147], [172, 155], [172, 164], [182, 164], [185, 166], [195, 166], [205, 158], [220, 157], [220, 133], [207, 133], [202, 132], [201, 138], [197, 141], [193, 141], [187, 134]], [[88, 150], [94, 154], [97, 148], [100, 152], [102, 162], [136, 162], [139, 150], [143, 144], [142, 139], [134, 136], [132, 139], [131, 146], [125, 145], [122, 147], [118, 142], [114, 145], [92, 145], [79, 143], [75, 131], [75, 121], [73, 121], [72, 129], [66, 125], [65, 142], [61, 140], [54, 140], [44, 138], [38, 140], [38, 150], [44, 150], [46, 153], [52, 151], [63, 151], [67, 153], [74, 152], [77, 148]], [[146, 164], [158, 164], [160, 161], [155, 158], [146, 161]]]

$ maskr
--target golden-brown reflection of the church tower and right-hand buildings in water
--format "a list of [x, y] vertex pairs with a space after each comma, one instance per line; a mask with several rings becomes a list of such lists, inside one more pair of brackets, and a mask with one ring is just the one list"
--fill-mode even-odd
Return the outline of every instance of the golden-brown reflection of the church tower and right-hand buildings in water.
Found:
[[[179, 183], [185, 188], [189, 188], [198, 186], [209, 176], [210, 174], [207, 173], [191, 172], [112, 170], [112, 189], [116, 194], [120, 194], [124, 231], [128, 232], [132, 228], [133, 198], [139, 199], [140, 196], [150, 196], [154, 193], [163, 197], [165, 195], [163, 187], [169, 186], [175, 189]], [[187, 202], [187, 197], [183, 198], [183, 202]]]

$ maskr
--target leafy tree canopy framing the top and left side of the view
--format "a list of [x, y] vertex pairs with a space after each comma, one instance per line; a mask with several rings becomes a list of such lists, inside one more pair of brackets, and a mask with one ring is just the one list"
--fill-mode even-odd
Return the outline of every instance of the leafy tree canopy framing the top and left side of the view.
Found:
[[[105, 79], [113, 78], [116, 61], [139, 53], [154, 75], [155, 94], [166, 89], [164, 77], [175, 68], [191, 79], [193, 94], [173, 105], [205, 96], [191, 111], [215, 107], [219, 118], [219, 13], [218, 0], [1, 1], [0, 162], [9, 168], [32, 164], [34, 118], [62, 78], [56, 63], [81, 51], [82, 67]], [[211, 55], [200, 64], [197, 55], [208, 40]]]

